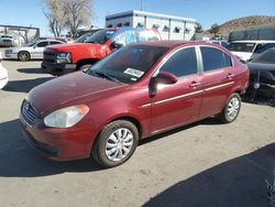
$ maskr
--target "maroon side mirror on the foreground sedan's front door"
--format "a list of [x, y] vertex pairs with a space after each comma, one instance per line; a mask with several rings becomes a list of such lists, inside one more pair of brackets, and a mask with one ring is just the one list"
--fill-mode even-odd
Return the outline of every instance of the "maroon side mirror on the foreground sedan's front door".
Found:
[[150, 81], [150, 97], [154, 97], [158, 85], [173, 85], [177, 83], [177, 77], [168, 72], [161, 72]]

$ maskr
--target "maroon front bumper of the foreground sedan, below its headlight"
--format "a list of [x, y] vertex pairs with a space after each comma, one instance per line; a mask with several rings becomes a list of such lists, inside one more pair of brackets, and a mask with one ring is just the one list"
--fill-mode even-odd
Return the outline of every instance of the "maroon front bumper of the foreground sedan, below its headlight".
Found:
[[20, 115], [20, 121], [28, 144], [51, 160], [72, 161], [90, 156], [96, 138], [92, 129], [38, 127], [41, 123], [31, 126], [25, 121], [22, 113]]

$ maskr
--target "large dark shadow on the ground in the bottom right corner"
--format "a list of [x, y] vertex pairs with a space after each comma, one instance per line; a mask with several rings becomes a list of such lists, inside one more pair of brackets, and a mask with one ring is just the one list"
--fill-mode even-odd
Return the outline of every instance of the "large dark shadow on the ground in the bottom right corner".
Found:
[[274, 167], [275, 143], [182, 181], [144, 206], [267, 207], [265, 179], [273, 184]]

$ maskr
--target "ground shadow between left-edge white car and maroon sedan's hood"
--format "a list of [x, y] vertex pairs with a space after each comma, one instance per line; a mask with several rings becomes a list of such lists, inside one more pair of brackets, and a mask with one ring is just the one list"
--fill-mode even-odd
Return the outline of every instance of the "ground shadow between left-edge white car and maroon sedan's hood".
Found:
[[53, 78], [54, 77], [43, 77], [36, 79], [10, 80], [2, 90], [13, 91], [13, 92], [29, 92], [35, 86], [38, 86]]

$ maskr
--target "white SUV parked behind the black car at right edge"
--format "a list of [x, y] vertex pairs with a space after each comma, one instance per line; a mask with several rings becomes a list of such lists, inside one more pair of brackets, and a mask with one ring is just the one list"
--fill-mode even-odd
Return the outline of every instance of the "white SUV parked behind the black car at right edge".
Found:
[[271, 47], [275, 47], [275, 41], [234, 41], [228, 45], [228, 50], [244, 62]]

